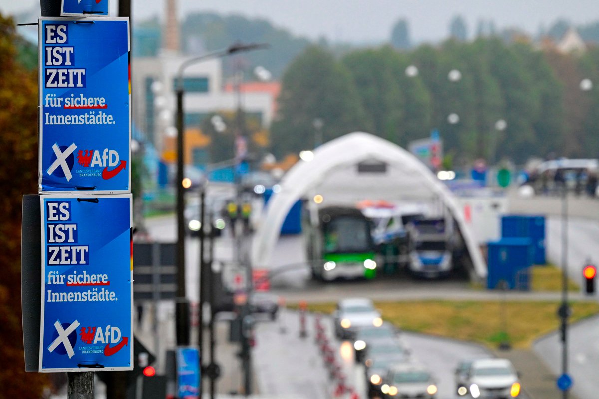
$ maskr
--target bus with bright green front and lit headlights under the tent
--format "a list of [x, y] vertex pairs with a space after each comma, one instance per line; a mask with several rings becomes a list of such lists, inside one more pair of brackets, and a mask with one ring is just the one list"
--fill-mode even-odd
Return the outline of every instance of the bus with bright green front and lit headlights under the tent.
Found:
[[343, 206], [329, 206], [316, 212], [304, 228], [313, 278], [322, 281], [374, 278], [376, 246], [370, 220], [358, 209]]

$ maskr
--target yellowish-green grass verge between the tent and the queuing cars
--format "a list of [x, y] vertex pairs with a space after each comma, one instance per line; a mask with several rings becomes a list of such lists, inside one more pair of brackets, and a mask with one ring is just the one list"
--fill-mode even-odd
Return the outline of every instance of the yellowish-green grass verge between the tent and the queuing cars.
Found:
[[[403, 330], [478, 342], [490, 348], [497, 348], [506, 339], [515, 348], [529, 348], [537, 337], [558, 328], [555, 301], [426, 300], [377, 302], [376, 307], [386, 321]], [[313, 312], [331, 313], [334, 308], [333, 303], [308, 305]], [[570, 321], [574, 322], [599, 313], [599, 304], [573, 302], [571, 309]]]

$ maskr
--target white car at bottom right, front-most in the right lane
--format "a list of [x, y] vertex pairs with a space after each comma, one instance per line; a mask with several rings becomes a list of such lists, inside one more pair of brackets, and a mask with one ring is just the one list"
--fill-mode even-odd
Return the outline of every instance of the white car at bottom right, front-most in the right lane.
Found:
[[507, 359], [479, 359], [472, 362], [467, 376], [473, 398], [517, 398], [521, 386], [518, 371]]

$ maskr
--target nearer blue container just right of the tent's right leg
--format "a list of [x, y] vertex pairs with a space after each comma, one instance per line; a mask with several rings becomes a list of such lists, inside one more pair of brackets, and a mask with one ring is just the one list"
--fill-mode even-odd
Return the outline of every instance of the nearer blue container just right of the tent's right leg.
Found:
[[509, 290], [530, 290], [530, 266], [534, 249], [528, 238], [503, 238], [488, 243], [487, 288], [501, 288], [502, 282]]

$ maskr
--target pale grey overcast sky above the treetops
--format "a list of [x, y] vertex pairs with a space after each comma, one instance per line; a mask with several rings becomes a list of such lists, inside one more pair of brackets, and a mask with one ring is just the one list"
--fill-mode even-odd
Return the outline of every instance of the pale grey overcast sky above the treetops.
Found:
[[[134, 19], [162, 14], [165, 0], [131, 0]], [[111, 2], [116, 16], [117, 1]], [[0, 0], [2, 13], [37, 8], [39, 0]], [[479, 19], [492, 19], [498, 28], [517, 26], [536, 33], [562, 17], [575, 24], [599, 20], [597, 0], [179, 0], [179, 15], [193, 11], [260, 17], [295, 35], [331, 41], [380, 42], [389, 39], [400, 18], [410, 22], [416, 42], [437, 41], [447, 35], [449, 21], [461, 14], [469, 34]]]

